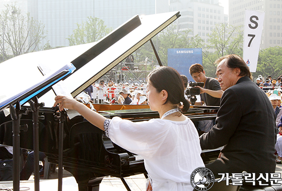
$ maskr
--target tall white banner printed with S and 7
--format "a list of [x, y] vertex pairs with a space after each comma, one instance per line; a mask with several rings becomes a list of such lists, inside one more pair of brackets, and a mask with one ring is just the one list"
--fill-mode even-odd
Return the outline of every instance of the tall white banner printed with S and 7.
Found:
[[255, 73], [265, 12], [245, 10], [243, 59]]

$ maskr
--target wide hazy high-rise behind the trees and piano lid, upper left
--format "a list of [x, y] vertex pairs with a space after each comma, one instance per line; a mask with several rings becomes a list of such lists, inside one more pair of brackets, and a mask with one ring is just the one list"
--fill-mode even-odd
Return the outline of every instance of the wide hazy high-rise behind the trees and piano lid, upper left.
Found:
[[[157, 0], [160, 4], [160, 0]], [[68, 46], [67, 39], [73, 30], [88, 17], [104, 20], [104, 24], [112, 29], [122, 25], [132, 16], [155, 14], [152, 0], [28, 0], [28, 11], [45, 25], [47, 42], [52, 46]]]

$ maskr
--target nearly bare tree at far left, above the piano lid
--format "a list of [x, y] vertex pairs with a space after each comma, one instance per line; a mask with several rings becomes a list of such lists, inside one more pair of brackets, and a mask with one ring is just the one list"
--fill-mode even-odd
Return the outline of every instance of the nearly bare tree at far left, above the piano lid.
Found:
[[5, 7], [0, 15], [0, 52], [4, 60], [36, 51], [45, 38], [43, 23], [29, 13], [23, 15], [15, 4]]

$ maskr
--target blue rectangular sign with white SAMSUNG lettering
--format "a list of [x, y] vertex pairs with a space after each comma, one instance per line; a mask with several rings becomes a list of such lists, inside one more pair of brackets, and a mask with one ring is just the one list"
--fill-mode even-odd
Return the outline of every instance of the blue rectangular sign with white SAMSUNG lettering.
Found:
[[179, 74], [194, 81], [189, 73], [192, 64], [202, 64], [202, 49], [168, 49], [168, 66], [175, 68]]

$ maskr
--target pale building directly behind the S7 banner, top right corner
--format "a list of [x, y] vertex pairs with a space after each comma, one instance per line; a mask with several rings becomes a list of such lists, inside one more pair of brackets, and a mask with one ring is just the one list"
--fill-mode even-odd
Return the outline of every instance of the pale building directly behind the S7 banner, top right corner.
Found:
[[229, 25], [244, 29], [245, 9], [264, 11], [260, 49], [282, 45], [282, 0], [229, 0]]

